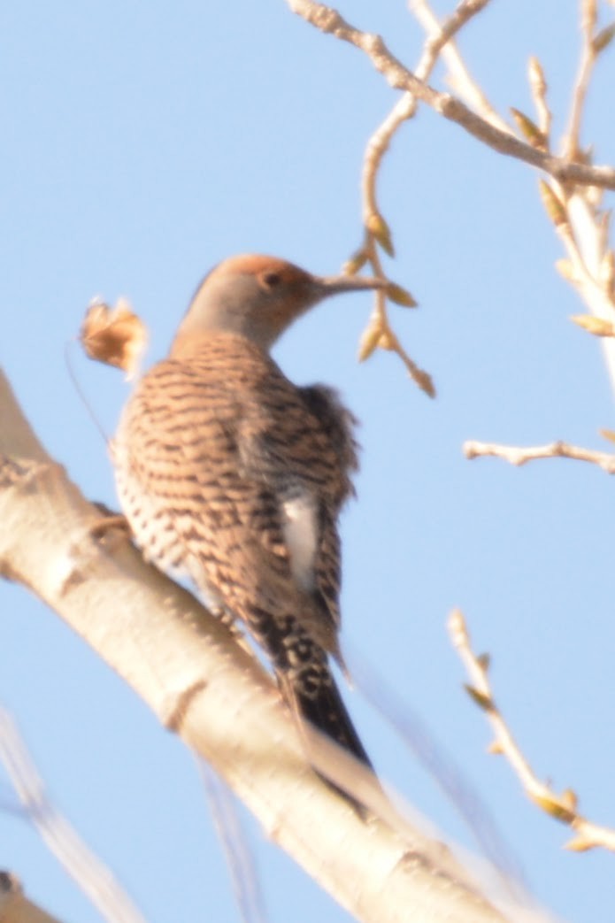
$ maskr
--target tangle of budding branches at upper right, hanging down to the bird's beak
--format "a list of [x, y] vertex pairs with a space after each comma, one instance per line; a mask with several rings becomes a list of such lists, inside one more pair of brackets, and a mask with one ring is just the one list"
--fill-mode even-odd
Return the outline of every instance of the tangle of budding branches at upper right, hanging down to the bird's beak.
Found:
[[[560, 156], [550, 150], [552, 116], [547, 102], [547, 83], [537, 59], [531, 58], [528, 66], [537, 123], [513, 109], [512, 127], [488, 102], [455, 45], [454, 37], [488, 6], [489, 0], [460, 0], [451, 16], [442, 23], [428, 0], [408, 0], [410, 11], [427, 33], [414, 71], [391, 53], [380, 36], [356, 29], [331, 7], [315, 0], [286, 2], [317, 29], [355, 45], [368, 55], [394, 89], [404, 90], [402, 98], [368, 141], [362, 176], [365, 239], [346, 264], [347, 271], [356, 271], [369, 262], [374, 272], [383, 275], [379, 246], [393, 256], [392, 234], [378, 206], [377, 178], [395, 132], [414, 116], [418, 103], [423, 102], [493, 150], [528, 163], [550, 177], [549, 183], [541, 181], [540, 191], [567, 255], [558, 268], [573, 284], [591, 314], [615, 327], [615, 256], [608, 244], [609, 212], [598, 208], [602, 191], [615, 189], [615, 169], [593, 165], [580, 145], [587, 88], [599, 54], [615, 35], [615, 24], [597, 30], [597, 0], [580, 0], [582, 53]], [[456, 95], [436, 90], [428, 83], [440, 57], [448, 67], [449, 83]], [[586, 330], [597, 332], [589, 327]], [[605, 338], [603, 344], [615, 389], [615, 342]], [[377, 348], [397, 353], [416, 384], [429, 395], [435, 394], [431, 378], [416, 366], [393, 332], [384, 294], [378, 296], [361, 341], [359, 358], [368, 358]]]

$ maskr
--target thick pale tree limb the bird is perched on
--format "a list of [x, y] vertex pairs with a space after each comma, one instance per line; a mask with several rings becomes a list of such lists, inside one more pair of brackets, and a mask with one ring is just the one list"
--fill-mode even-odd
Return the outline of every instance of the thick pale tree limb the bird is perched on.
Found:
[[2, 376], [0, 408], [0, 573], [52, 606], [358, 919], [502, 921], [449, 850], [411, 828], [372, 774], [324, 738], [310, 756], [373, 818], [320, 781], [254, 658], [121, 533], [96, 538], [99, 510], [42, 449]]

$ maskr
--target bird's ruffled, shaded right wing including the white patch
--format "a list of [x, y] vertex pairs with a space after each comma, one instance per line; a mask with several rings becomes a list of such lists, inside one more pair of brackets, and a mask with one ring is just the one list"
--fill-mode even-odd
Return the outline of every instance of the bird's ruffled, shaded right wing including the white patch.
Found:
[[[356, 421], [334, 391], [323, 386], [297, 389], [277, 366], [267, 378], [267, 400], [259, 397], [258, 388], [252, 397], [241, 414], [239, 444], [246, 470], [276, 497], [293, 577], [316, 606], [328, 639], [321, 643], [339, 657], [337, 517], [353, 493]], [[304, 610], [309, 618], [314, 617], [312, 609]]]

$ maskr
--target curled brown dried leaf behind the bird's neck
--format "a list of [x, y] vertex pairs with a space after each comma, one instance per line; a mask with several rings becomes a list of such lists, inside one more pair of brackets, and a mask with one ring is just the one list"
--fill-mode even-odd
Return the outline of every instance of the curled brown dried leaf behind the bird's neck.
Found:
[[148, 336], [142, 320], [119, 299], [113, 308], [100, 302], [90, 305], [79, 339], [90, 359], [121, 368], [130, 376], [139, 365]]

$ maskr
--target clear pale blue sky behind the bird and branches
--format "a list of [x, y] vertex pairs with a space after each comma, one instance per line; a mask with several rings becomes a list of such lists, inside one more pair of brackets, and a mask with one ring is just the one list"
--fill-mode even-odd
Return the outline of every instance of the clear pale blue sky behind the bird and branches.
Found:
[[[421, 32], [403, 3], [341, 8], [416, 63]], [[537, 54], [559, 137], [578, 42], [576, 4], [525, 0], [492, 5], [461, 46], [502, 114], [530, 111], [526, 63]], [[613, 62], [608, 53], [598, 68], [584, 126], [598, 162], [615, 161]], [[153, 361], [225, 256], [269, 252], [338, 270], [360, 240], [364, 145], [396, 94], [283, 0], [5, 4], [0, 81], [3, 365], [48, 450], [87, 496], [115, 506], [103, 440], [66, 371], [90, 298], [127, 295], [150, 327]], [[467, 462], [461, 451], [466, 438], [606, 448], [597, 429], [615, 427], [599, 348], [567, 319], [581, 306], [553, 269], [560, 248], [524, 165], [421, 110], [393, 143], [380, 204], [397, 249], [387, 270], [420, 302], [393, 307], [392, 321], [438, 400], [390, 354], [357, 365], [368, 295], [321, 306], [276, 350], [291, 378], [332, 383], [362, 421], [358, 501], [343, 522], [344, 643], [473, 781], [532, 893], [567, 920], [607, 923], [612, 857], [563, 851], [567, 831], [488, 756], [445, 630], [461, 605], [537, 772], [615, 824], [608, 476], [575, 462]], [[127, 386], [76, 344], [71, 356], [112, 434]], [[187, 750], [59, 618], [19, 587], [0, 594], [0, 698], [58, 807], [153, 923], [237, 919]], [[348, 701], [382, 776], [472, 845], [404, 743], [359, 692]], [[1, 774], [0, 798], [14, 803]], [[349, 918], [249, 820], [247, 833], [273, 923]], [[59, 917], [99, 920], [7, 813], [0, 867]]]

